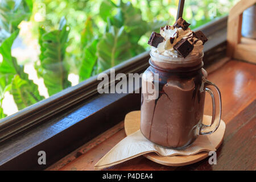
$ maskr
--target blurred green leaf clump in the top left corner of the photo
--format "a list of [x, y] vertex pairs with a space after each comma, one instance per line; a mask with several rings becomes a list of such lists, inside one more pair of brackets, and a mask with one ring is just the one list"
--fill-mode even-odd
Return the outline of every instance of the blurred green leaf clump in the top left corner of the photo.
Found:
[[30, 18], [32, 5], [32, 0], [0, 1], [0, 44], [18, 29], [22, 20]]

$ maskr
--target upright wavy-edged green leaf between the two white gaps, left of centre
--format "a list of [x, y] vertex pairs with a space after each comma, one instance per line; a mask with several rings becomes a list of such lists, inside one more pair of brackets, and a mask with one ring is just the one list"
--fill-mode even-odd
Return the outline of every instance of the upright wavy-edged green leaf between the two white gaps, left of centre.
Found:
[[43, 77], [49, 96], [71, 86], [68, 81], [68, 66], [64, 62], [65, 49], [68, 46], [69, 27], [65, 19], [61, 19], [59, 30], [47, 32], [39, 28], [39, 44], [41, 54], [40, 66], [37, 67], [39, 77]]

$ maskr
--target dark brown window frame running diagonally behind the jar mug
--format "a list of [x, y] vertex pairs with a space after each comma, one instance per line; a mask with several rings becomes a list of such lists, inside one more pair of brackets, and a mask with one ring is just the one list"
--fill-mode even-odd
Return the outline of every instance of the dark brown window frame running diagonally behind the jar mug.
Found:
[[[225, 57], [227, 21], [224, 16], [194, 30], [203, 31], [209, 39], [204, 46], [206, 68]], [[149, 66], [149, 57], [147, 51], [124, 61], [114, 67], [115, 74], [142, 73]], [[110, 69], [104, 73], [110, 75]], [[0, 169], [45, 169], [122, 121], [129, 111], [140, 109], [141, 94], [99, 94], [99, 82], [97, 76], [91, 77], [3, 118]], [[71, 124], [64, 126], [67, 120]], [[36, 165], [40, 150], [47, 153], [47, 165]]]

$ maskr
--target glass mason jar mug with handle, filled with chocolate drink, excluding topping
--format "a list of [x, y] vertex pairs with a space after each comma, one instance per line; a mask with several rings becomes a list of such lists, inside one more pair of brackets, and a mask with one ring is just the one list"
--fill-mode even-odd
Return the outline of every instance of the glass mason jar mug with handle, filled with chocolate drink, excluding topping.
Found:
[[[184, 59], [150, 52], [150, 67], [142, 76], [141, 132], [151, 142], [184, 148], [220, 125], [221, 94], [206, 80], [203, 55]], [[205, 91], [212, 97], [211, 125], [202, 123]]]

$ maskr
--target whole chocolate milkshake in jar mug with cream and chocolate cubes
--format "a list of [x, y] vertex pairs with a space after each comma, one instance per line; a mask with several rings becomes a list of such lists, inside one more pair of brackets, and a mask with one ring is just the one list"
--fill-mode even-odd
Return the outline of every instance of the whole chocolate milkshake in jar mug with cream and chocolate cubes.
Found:
[[[203, 69], [207, 38], [188, 26], [179, 18], [174, 26], [160, 28], [160, 34], [152, 32], [148, 41], [151, 58], [142, 77], [141, 132], [164, 147], [187, 147], [199, 134], [213, 133], [220, 122], [219, 91], [206, 80]], [[155, 76], [157, 79], [149, 79]], [[155, 97], [151, 97], [148, 86]], [[213, 108], [211, 126], [202, 124], [205, 91], [210, 92], [217, 106]]]

